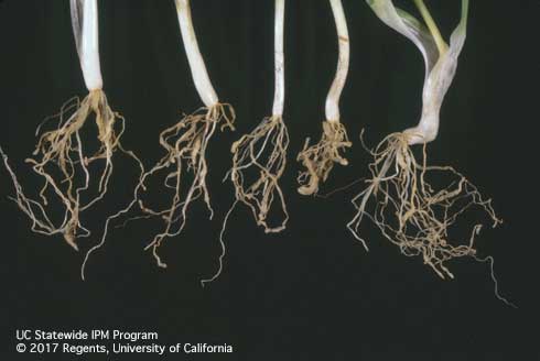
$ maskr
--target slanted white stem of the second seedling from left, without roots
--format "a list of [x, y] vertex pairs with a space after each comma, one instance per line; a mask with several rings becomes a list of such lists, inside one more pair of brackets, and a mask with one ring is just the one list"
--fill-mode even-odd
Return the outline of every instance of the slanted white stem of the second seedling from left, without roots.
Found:
[[195, 30], [193, 28], [190, 0], [175, 0], [175, 3], [179, 14], [180, 31], [182, 33], [182, 40], [184, 42], [187, 61], [190, 62], [195, 88], [204, 105], [210, 108], [218, 102], [218, 98], [212, 86], [208, 72], [206, 70], [203, 56], [198, 48], [197, 37], [195, 36]]

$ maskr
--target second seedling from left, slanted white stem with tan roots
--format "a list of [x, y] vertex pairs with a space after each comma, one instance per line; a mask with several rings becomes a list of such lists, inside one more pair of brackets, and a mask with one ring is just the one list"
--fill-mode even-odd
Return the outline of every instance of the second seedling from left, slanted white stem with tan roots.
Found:
[[[160, 267], [166, 267], [158, 249], [166, 238], [179, 236], [185, 227], [190, 205], [198, 198], [203, 198], [209, 211], [209, 218], [214, 216], [210, 205], [210, 195], [206, 186], [208, 164], [206, 151], [210, 139], [217, 129], [234, 130], [235, 112], [230, 105], [222, 103], [210, 83], [206, 65], [198, 48], [195, 30], [193, 26], [190, 0], [174, 0], [176, 13], [184, 43], [185, 53], [190, 64], [192, 78], [204, 107], [194, 113], [185, 114], [177, 123], [163, 130], [159, 135], [159, 143], [165, 150], [165, 155], [148, 172], [141, 175], [134, 190], [132, 203], [123, 210], [108, 220], [101, 241], [91, 248], [86, 254], [82, 267], [84, 277], [85, 265], [90, 254], [105, 244], [109, 221], [127, 214], [134, 205], [138, 205], [142, 216], [131, 218], [159, 218], [164, 221], [164, 228], [152, 238], [144, 248], [152, 250], [152, 254]], [[165, 172], [163, 186], [173, 192], [170, 205], [164, 209], [153, 209], [144, 204], [141, 193], [147, 190], [147, 182], [151, 176]], [[186, 178], [186, 176], [191, 176]], [[185, 193], [183, 188], [186, 187]]]

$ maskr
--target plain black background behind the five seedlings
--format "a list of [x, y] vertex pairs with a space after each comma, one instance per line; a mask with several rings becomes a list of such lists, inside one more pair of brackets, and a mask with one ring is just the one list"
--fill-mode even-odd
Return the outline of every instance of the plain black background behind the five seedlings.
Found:
[[[412, 9], [410, 2], [397, 3]], [[460, 1], [428, 4], [447, 36], [458, 21]], [[335, 168], [323, 193], [366, 175], [369, 158], [358, 141], [363, 128], [375, 144], [414, 124], [421, 107], [423, 62], [417, 48], [364, 1], [346, 0], [344, 7], [352, 67], [342, 121], [355, 144], [347, 153], [350, 165]], [[289, 228], [266, 236], [245, 208], [237, 209], [226, 233], [224, 273], [202, 288], [199, 280], [215, 272], [217, 236], [233, 201], [231, 185], [222, 183], [228, 149], [271, 111], [273, 1], [199, 0], [192, 10], [214, 86], [238, 116], [236, 133], [216, 134], [210, 144], [215, 219], [209, 221], [198, 204], [192, 208], [185, 232], [161, 248], [168, 270], [142, 251], [151, 223], [115, 230], [90, 259], [82, 282], [84, 251], [97, 241], [104, 215], [130, 199], [133, 163], [116, 157], [107, 200], [85, 218], [95, 236], [80, 241], [79, 253], [60, 238], [29, 230], [29, 220], [7, 198], [13, 188], [2, 167], [1, 308], [7, 321], [1, 324], [7, 335], [1, 353], [14, 353], [17, 328], [122, 328], [159, 331], [164, 343], [227, 342], [235, 346], [236, 360], [467, 360], [473, 354], [484, 360], [504, 351], [527, 355], [523, 360], [538, 357], [532, 343], [538, 328], [527, 327], [537, 316], [539, 285], [538, 1], [471, 1], [467, 42], [442, 109], [440, 136], [429, 145], [431, 163], [454, 165], [494, 198], [505, 223], [486, 227], [478, 249], [495, 258], [500, 292], [517, 310], [496, 299], [486, 264], [454, 261], [450, 266], [456, 280], [441, 281], [367, 222], [370, 252], [365, 252], [345, 228], [353, 216], [349, 199], [359, 188], [331, 199], [296, 194], [294, 157], [305, 136], [320, 136], [337, 56], [324, 0], [287, 3], [284, 120], [291, 146], [282, 186]], [[99, 1], [99, 12], [105, 90], [127, 118], [123, 144], [150, 165], [162, 155], [159, 131], [177, 121], [181, 111], [201, 106], [174, 4]], [[68, 1], [2, 1], [0, 46], [0, 141], [26, 192], [35, 196], [39, 179], [23, 163], [35, 144], [34, 129], [69, 97], [86, 94]]]

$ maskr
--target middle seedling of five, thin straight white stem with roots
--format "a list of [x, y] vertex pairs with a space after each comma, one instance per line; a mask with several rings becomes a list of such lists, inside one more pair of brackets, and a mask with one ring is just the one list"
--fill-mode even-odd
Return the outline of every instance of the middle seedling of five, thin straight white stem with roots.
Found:
[[[279, 180], [285, 171], [289, 133], [283, 122], [285, 99], [284, 85], [284, 28], [285, 0], [276, 0], [274, 23], [274, 98], [272, 116], [262, 121], [248, 134], [233, 143], [233, 167], [227, 177], [235, 186], [236, 203], [248, 206], [258, 226], [267, 233], [280, 232], [289, 220], [285, 199]], [[256, 172], [253, 179], [248, 172]], [[283, 215], [281, 222], [268, 225], [267, 217], [277, 203]], [[233, 206], [234, 208], [235, 206]]]

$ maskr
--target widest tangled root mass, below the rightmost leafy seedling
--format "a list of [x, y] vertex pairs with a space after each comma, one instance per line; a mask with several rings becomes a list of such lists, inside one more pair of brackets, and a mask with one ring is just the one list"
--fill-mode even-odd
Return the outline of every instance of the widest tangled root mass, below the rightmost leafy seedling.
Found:
[[[425, 144], [422, 164], [419, 164], [408, 144], [407, 133], [395, 133], [384, 139], [374, 151], [374, 162], [369, 165], [371, 179], [367, 188], [358, 194], [353, 204], [356, 215], [347, 225], [356, 239], [359, 236], [364, 216], [380, 229], [385, 238], [399, 247], [407, 256], [422, 255], [425, 264], [445, 278], [453, 278], [445, 262], [455, 258], [476, 256], [475, 236], [482, 226], [476, 225], [469, 239], [454, 245], [449, 239], [449, 230], [465, 210], [477, 206], [493, 220], [493, 227], [501, 223], [478, 189], [462, 174], [450, 166], [428, 166]], [[428, 173], [449, 174], [452, 183], [435, 190], [425, 179]], [[369, 198], [377, 203], [367, 209]], [[390, 216], [391, 219], [387, 219]], [[367, 248], [367, 247], [366, 247]]]

